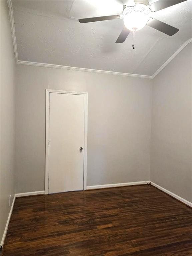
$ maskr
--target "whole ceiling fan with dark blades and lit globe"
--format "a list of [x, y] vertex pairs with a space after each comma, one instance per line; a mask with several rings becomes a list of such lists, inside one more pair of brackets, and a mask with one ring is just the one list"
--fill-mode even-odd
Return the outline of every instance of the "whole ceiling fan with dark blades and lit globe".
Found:
[[122, 1], [124, 3], [123, 14], [79, 19], [79, 22], [88, 23], [95, 21], [123, 19], [125, 26], [115, 43], [125, 42], [130, 31], [138, 31], [142, 29], [145, 25], [148, 25], [149, 27], [152, 27], [169, 36], [172, 36], [177, 33], [179, 29], [152, 18], [151, 14], [153, 12], [165, 9], [169, 6], [184, 1], [187, 0], [159, 0], [152, 4], [149, 4], [147, 0], [125, 0]]

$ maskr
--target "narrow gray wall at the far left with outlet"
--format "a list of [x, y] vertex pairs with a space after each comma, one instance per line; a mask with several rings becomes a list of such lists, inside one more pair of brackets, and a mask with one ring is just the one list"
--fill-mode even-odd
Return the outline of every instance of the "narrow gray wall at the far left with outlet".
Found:
[[15, 194], [15, 56], [7, 1], [0, 1], [1, 13], [1, 84], [0, 84], [0, 241]]

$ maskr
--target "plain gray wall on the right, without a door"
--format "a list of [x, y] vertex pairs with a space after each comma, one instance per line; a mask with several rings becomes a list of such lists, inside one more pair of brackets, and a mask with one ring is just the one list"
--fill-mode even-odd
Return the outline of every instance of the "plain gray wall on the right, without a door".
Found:
[[151, 181], [192, 202], [192, 43], [153, 80]]

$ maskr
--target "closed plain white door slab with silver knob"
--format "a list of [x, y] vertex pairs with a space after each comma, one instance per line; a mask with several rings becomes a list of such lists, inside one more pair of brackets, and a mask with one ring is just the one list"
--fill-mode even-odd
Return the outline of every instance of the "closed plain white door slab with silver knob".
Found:
[[85, 95], [50, 93], [49, 102], [49, 194], [83, 190]]

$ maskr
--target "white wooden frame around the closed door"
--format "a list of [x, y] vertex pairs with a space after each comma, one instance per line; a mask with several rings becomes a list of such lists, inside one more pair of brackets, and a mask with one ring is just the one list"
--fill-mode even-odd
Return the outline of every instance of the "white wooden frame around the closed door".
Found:
[[49, 99], [50, 93], [76, 94], [85, 96], [85, 128], [84, 128], [84, 159], [83, 159], [83, 190], [87, 189], [87, 123], [88, 93], [46, 89], [46, 128], [45, 128], [45, 194], [48, 194], [49, 182]]

